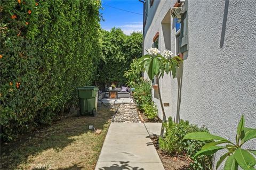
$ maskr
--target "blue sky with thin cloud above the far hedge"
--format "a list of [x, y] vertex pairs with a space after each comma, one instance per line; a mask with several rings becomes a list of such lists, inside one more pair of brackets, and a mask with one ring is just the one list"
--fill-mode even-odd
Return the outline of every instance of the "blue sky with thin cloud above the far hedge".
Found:
[[[111, 6], [111, 7], [110, 7]], [[101, 21], [101, 28], [110, 30], [113, 27], [121, 28], [126, 35], [133, 31], [142, 31], [143, 4], [138, 0], [102, 0], [103, 10], [100, 12], [105, 21]], [[131, 11], [125, 12], [118, 10]]]

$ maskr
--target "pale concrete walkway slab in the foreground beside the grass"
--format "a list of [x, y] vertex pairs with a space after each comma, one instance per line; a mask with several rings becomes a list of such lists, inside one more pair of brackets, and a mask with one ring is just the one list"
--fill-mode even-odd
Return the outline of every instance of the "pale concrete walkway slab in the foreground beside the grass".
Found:
[[111, 123], [95, 169], [164, 170], [148, 134], [160, 129], [161, 123]]

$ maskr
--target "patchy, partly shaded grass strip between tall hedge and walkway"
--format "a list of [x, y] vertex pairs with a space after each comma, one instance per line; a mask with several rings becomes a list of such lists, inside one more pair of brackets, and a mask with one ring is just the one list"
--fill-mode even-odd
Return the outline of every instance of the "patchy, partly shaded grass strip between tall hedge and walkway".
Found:
[[[94, 169], [113, 115], [113, 110], [101, 108], [95, 117], [68, 116], [3, 144], [1, 169]], [[88, 130], [89, 124], [102, 133]]]

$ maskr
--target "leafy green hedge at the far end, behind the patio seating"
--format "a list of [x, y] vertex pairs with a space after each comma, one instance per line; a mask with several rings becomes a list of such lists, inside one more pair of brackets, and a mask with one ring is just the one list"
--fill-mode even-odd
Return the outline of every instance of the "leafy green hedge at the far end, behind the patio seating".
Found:
[[120, 28], [101, 30], [102, 52], [97, 79], [100, 83], [119, 82], [125, 84], [124, 72], [129, 70], [134, 58], [142, 56], [142, 33], [133, 32], [130, 36]]

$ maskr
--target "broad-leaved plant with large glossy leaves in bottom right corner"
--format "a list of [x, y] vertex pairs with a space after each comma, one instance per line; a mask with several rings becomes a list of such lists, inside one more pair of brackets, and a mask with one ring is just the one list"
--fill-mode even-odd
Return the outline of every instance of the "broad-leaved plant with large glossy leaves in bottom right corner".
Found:
[[[217, 135], [212, 135], [207, 132], [194, 132], [187, 134], [183, 140], [192, 139], [197, 141], [215, 140], [211, 143], [207, 143], [198, 151], [194, 158], [202, 155], [212, 155], [218, 150], [227, 149], [227, 153], [222, 155], [217, 162], [216, 169], [221, 163], [226, 160], [224, 169], [237, 170], [238, 166], [245, 170], [253, 170], [256, 164], [255, 157], [256, 150], [253, 149], [242, 149], [242, 145], [248, 140], [256, 138], [256, 129], [244, 127], [244, 116], [242, 115], [241, 120], [237, 126], [236, 143], [233, 143], [225, 138]], [[226, 146], [218, 146], [220, 144], [227, 143]], [[254, 156], [253, 156], [253, 155]]]

